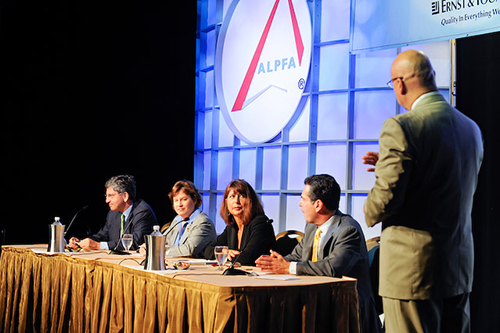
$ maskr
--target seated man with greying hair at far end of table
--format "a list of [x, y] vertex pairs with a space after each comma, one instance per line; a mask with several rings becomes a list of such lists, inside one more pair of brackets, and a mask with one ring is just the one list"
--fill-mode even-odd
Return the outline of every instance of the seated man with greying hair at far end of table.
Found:
[[110, 178], [104, 185], [106, 203], [110, 211], [106, 224], [97, 234], [80, 241], [72, 237], [68, 246], [84, 250], [123, 250], [120, 238], [123, 234], [132, 234], [134, 242], [131, 249], [137, 249], [144, 243], [144, 235], [153, 231], [157, 224], [151, 207], [142, 199], [136, 198], [136, 184], [133, 176], [120, 175]]

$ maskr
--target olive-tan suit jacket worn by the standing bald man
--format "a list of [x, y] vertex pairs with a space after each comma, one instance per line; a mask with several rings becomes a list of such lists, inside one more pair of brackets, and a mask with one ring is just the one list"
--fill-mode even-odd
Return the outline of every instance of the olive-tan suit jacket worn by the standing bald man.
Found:
[[452, 297], [470, 292], [471, 209], [483, 159], [479, 127], [440, 94], [389, 118], [380, 134], [368, 226], [382, 221], [381, 296]]

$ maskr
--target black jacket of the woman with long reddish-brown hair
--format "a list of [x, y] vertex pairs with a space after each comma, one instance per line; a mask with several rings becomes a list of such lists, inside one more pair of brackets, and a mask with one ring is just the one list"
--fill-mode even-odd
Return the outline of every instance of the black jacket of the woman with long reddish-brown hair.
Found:
[[257, 215], [243, 229], [241, 247], [238, 248], [238, 226], [236, 223], [228, 225], [217, 239], [205, 249], [205, 258], [214, 259], [214, 247], [226, 245], [229, 249], [241, 251], [237, 262], [242, 265], [255, 266], [255, 260], [262, 254], [269, 254], [276, 238], [274, 229], [265, 215]]

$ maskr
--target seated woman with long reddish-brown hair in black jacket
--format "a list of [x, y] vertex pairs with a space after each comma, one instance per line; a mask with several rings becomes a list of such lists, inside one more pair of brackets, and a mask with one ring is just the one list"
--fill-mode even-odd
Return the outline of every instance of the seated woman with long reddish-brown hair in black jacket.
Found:
[[275, 242], [274, 229], [250, 184], [242, 179], [229, 183], [220, 215], [226, 229], [205, 248], [205, 258], [215, 258], [214, 247], [219, 245], [229, 248], [228, 260], [238, 256], [236, 261], [242, 265], [255, 265], [260, 255], [269, 253]]

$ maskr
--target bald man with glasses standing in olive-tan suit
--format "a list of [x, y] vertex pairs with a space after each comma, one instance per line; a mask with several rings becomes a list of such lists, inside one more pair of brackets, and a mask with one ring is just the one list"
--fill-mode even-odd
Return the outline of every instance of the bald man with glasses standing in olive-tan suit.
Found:
[[[471, 209], [483, 143], [479, 127], [437, 91], [422, 52], [401, 53], [388, 85], [409, 112], [389, 118], [364, 211], [382, 221], [380, 290], [386, 332], [470, 332]], [[369, 169], [372, 170], [372, 169]]]

